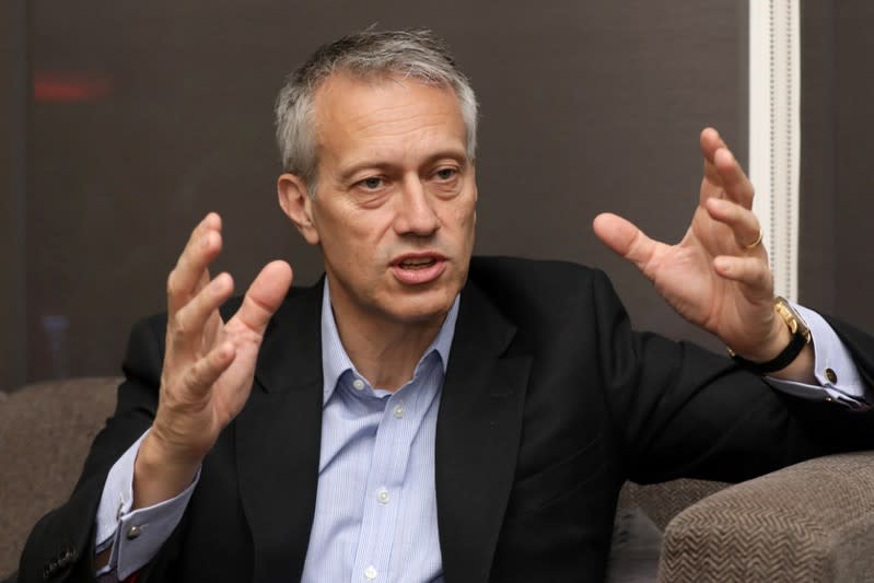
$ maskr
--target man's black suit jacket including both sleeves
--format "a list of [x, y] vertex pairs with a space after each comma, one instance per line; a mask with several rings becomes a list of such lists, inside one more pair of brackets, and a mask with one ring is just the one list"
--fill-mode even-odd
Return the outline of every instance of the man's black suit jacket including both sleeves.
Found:
[[[293, 290], [273, 317], [249, 400], [140, 582], [300, 579], [319, 457], [321, 299], [321, 285]], [[870, 382], [874, 342], [832, 325]], [[70, 501], [35, 527], [22, 581], [90, 572], [106, 474], [154, 416], [164, 327], [155, 317], [133, 330], [117, 410]], [[745, 479], [872, 447], [871, 427], [871, 415], [791, 399], [727, 358], [632, 331], [599, 271], [474, 258], [436, 429], [445, 579], [601, 581], [627, 478]], [[58, 567], [65, 550], [75, 560]]]

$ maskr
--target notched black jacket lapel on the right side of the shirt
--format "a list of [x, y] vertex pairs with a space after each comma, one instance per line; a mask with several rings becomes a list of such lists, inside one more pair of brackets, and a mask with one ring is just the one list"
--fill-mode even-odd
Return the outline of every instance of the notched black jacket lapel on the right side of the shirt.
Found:
[[436, 430], [436, 500], [446, 581], [487, 581], [515, 473], [531, 357], [515, 328], [468, 283], [462, 293]]

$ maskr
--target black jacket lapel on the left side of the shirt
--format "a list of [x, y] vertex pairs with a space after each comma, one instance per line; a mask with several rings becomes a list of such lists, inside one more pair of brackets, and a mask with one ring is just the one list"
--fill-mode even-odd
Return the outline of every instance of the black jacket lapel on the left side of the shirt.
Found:
[[322, 431], [322, 285], [293, 290], [265, 335], [235, 422], [254, 581], [300, 580], [315, 512]]

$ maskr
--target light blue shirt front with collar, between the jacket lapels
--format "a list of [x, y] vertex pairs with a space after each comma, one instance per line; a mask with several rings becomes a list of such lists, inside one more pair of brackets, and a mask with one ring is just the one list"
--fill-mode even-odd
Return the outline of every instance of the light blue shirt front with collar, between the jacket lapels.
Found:
[[440, 581], [434, 435], [458, 299], [394, 394], [349, 360], [327, 285], [322, 314], [325, 408], [303, 581]]

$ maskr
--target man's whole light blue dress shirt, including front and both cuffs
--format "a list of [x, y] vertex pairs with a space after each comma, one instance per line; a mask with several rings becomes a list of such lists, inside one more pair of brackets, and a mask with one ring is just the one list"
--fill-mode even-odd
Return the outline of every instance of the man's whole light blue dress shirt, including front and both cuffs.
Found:
[[[800, 398], [866, 408], [870, 395], [837, 334], [817, 313], [796, 307], [814, 338], [819, 385], [768, 382]], [[413, 378], [393, 394], [372, 387], [356, 371], [340, 342], [326, 282], [322, 451], [303, 581], [442, 581], [434, 438], [457, 312], [456, 298]], [[107, 580], [126, 579], [158, 553], [200, 478], [198, 473], [171, 500], [131, 512], [133, 463], [144, 436], [113, 466], [97, 510], [97, 550], [113, 545], [109, 563], [98, 573]], [[121, 536], [132, 527], [139, 536]]]

